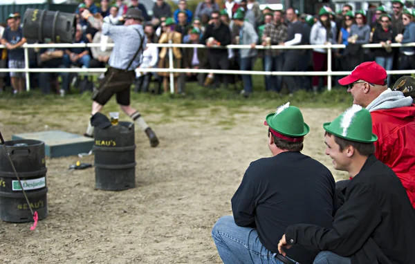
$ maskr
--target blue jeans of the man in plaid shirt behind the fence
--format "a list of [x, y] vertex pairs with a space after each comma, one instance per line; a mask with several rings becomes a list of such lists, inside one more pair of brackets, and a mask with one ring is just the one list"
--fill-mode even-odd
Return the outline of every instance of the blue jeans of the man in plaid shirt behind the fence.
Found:
[[[265, 55], [264, 57], [264, 70], [265, 71], [282, 71], [284, 66], [284, 55]], [[281, 91], [282, 75], [265, 75], [265, 88], [266, 91]]]

